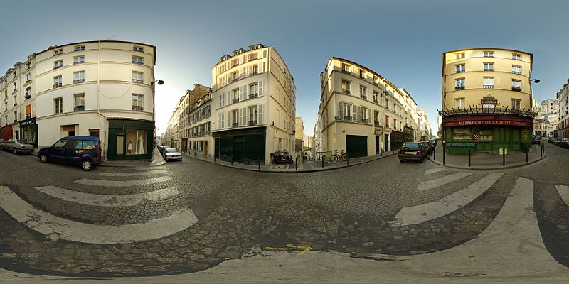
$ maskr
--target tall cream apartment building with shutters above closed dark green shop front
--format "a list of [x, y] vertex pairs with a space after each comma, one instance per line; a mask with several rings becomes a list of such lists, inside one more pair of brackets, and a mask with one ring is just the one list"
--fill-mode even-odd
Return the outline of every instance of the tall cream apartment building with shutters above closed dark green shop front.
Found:
[[271, 163], [273, 151], [294, 152], [296, 87], [275, 48], [234, 50], [211, 76], [216, 158], [256, 165]]

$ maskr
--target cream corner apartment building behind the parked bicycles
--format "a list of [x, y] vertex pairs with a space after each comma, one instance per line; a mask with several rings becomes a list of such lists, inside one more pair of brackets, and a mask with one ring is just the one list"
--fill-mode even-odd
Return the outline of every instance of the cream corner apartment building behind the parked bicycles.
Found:
[[415, 140], [417, 104], [405, 89], [363, 65], [336, 57], [327, 62], [320, 77], [314, 126], [317, 152], [346, 151], [356, 158]]

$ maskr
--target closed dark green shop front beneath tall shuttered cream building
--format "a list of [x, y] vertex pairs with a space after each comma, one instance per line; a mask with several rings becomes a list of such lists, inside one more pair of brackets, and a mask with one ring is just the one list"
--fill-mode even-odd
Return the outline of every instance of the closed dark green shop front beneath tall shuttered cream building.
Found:
[[216, 158], [246, 165], [265, 165], [266, 128], [254, 127], [213, 132]]

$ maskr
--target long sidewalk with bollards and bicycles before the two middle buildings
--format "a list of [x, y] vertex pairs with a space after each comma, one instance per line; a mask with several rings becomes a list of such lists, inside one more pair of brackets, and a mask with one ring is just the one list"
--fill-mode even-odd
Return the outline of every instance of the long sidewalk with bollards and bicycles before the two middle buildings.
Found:
[[368, 157], [360, 157], [360, 158], [353, 158], [353, 159], [349, 159], [346, 162], [338, 162], [336, 164], [331, 164], [329, 163], [329, 161], [324, 160], [324, 168], [322, 167], [322, 161], [321, 160], [309, 160], [309, 161], [304, 161], [304, 163], [302, 163], [299, 160], [298, 165], [296, 164], [296, 161], [292, 164], [279, 164], [279, 165], [245, 165], [243, 163], [230, 163], [227, 161], [223, 161], [223, 160], [219, 160], [219, 159], [214, 159], [213, 157], [208, 158], [208, 157], [204, 157], [203, 153], [200, 151], [193, 151], [190, 150], [188, 153], [182, 153], [183, 155], [186, 155], [186, 157], [188, 158], [196, 158], [197, 160], [204, 160], [206, 162], [209, 163], [216, 163], [218, 165], [223, 165], [226, 167], [230, 167], [230, 168], [240, 168], [243, 170], [253, 170], [253, 171], [257, 171], [257, 172], [266, 172], [266, 173], [311, 173], [311, 172], [317, 172], [317, 171], [321, 171], [321, 170], [336, 170], [339, 168], [347, 168], [347, 167], [351, 167], [353, 165], [360, 165], [363, 163], [368, 163], [371, 162], [373, 160], [378, 160], [381, 158], [385, 158], [388, 157], [390, 155], [395, 155], [397, 154], [397, 151], [391, 151], [388, 153], [383, 153], [381, 155], [371, 155]]

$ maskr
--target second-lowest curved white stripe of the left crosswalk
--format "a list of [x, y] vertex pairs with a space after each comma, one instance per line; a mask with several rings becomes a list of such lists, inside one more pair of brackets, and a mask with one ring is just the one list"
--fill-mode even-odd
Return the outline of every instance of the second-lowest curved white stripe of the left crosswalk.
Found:
[[134, 206], [142, 202], [161, 200], [179, 194], [177, 187], [166, 187], [161, 190], [137, 193], [134, 195], [94, 195], [53, 185], [36, 187], [36, 189], [46, 195], [59, 198], [60, 200], [102, 207]]

